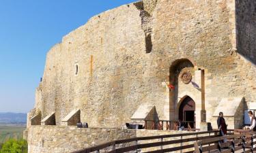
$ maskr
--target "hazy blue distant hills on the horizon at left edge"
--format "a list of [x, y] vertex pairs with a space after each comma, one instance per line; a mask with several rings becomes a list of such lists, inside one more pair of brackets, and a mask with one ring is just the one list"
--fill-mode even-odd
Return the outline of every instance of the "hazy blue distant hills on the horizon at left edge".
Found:
[[0, 113], [0, 124], [25, 124], [27, 114], [24, 113]]

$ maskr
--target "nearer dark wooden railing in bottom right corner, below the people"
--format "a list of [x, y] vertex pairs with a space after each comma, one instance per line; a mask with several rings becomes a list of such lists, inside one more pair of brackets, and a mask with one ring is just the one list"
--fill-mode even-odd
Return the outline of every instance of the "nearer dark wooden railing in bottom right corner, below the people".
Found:
[[202, 152], [255, 152], [256, 133], [249, 132], [241, 135], [229, 135], [225, 137], [215, 137], [203, 139], [195, 142], [195, 153]]

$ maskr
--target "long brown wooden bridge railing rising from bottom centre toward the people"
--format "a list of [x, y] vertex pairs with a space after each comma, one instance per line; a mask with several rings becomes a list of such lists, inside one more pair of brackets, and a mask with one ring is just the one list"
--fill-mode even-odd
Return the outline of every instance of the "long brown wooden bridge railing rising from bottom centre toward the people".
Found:
[[[229, 130], [232, 133], [233, 130]], [[132, 139], [115, 140], [98, 146], [86, 148], [73, 153], [88, 152], [194, 152], [194, 143], [201, 139], [218, 137], [218, 131], [182, 133], [174, 135], [158, 135], [152, 137], [134, 137]]]

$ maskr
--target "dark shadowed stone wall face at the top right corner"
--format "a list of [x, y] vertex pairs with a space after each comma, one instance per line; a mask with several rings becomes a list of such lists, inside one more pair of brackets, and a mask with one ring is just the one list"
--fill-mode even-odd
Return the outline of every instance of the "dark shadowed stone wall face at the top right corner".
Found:
[[256, 64], [256, 1], [236, 0], [238, 53]]

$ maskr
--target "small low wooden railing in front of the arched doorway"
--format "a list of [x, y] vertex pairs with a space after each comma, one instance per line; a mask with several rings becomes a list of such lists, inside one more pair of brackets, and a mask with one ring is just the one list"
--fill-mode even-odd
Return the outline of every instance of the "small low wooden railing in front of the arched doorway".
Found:
[[[195, 122], [182, 121], [187, 131], [199, 131], [195, 129]], [[150, 127], [148, 127], [150, 124]], [[177, 130], [179, 122], [177, 120], [145, 120], [145, 129], [151, 130]]]

